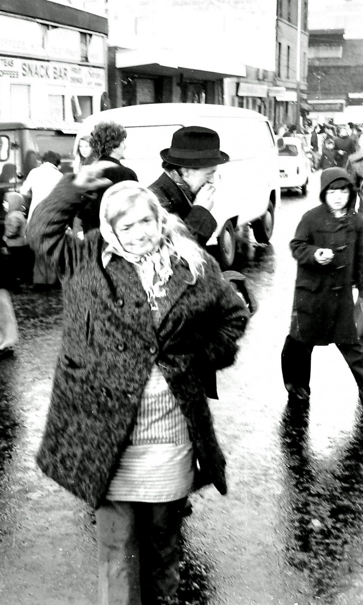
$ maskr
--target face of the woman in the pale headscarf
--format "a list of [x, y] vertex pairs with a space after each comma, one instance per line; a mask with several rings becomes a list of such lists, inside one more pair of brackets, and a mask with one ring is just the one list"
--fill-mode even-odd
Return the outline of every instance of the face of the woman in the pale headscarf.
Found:
[[160, 241], [157, 218], [149, 201], [142, 197], [116, 219], [113, 229], [123, 249], [137, 256], [152, 252]]

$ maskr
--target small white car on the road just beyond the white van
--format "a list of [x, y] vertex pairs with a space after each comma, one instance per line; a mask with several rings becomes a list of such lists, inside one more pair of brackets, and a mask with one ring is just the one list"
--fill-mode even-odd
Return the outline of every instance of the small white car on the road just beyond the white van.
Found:
[[278, 164], [281, 189], [301, 188], [301, 194], [306, 195], [311, 163], [304, 142], [298, 137], [283, 137], [283, 145], [278, 149]]

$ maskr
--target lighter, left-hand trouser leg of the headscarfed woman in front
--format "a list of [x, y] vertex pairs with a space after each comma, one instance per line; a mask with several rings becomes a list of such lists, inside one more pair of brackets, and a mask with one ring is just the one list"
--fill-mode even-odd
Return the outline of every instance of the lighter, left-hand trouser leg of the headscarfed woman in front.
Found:
[[106, 500], [96, 511], [99, 605], [141, 605], [133, 506]]

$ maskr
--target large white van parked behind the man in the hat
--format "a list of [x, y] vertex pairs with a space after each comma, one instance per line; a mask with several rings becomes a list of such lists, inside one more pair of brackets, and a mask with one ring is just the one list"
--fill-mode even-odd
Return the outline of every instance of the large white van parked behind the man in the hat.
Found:
[[280, 176], [275, 137], [266, 117], [224, 105], [158, 103], [132, 105], [102, 111], [79, 125], [80, 137], [90, 134], [99, 122], [113, 121], [127, 130], [125, 160], [142, 185], [151, 185], [162, 174], [160, 151], [171, 145], [181, 126], [206, 126], [218, 132], [220, 148], [230, 162], [215, 173], [212, 214], [217, 229], [208, 241], [218, 246], [221, 265], [229, 269], [235, 257], [237, 227], [251, 224], [255, 239], [268, 243], [275, 210], [280, 205]]

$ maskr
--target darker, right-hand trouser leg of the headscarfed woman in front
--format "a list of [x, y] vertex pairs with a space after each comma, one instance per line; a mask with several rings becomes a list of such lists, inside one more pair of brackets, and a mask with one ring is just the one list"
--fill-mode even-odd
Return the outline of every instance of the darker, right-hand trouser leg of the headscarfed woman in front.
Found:
[[186, 498], [165, 503], [136, 503], [142, 605], [168, 597], [179, 584], [179, 538]]

